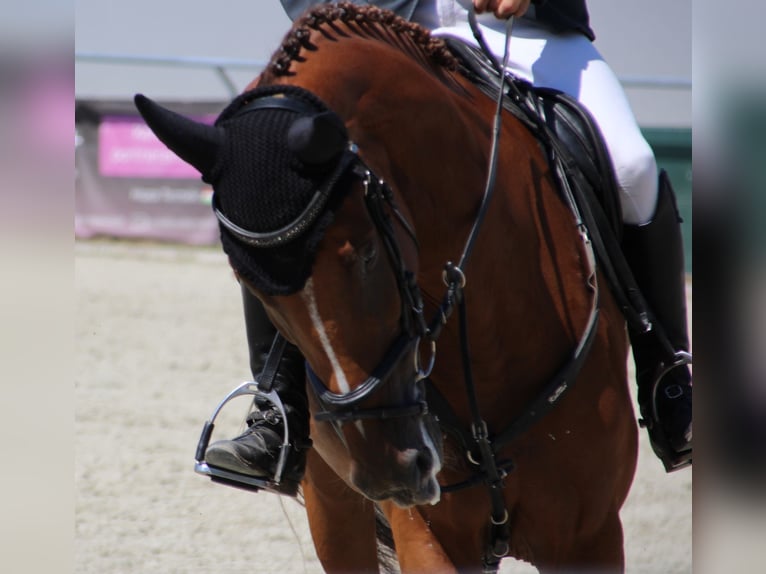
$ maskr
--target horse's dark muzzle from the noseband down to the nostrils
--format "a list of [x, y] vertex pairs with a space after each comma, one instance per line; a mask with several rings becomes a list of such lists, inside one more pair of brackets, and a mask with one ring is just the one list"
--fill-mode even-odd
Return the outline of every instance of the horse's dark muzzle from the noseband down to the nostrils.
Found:
[[417, 340], [397, 337], [370, 376], [353, 390], [330, 391], [307, 363], [314, 419], [329, 423], [348, 452], [351, 486], [371, 500], [436, 504], [442, 435], [429, 413]]

